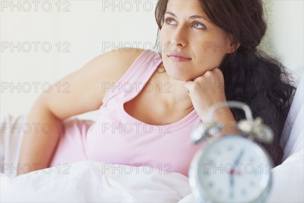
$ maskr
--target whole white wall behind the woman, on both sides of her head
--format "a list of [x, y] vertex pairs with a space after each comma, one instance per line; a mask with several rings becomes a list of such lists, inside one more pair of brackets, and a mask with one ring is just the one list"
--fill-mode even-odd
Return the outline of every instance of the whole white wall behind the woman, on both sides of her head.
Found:
[[[114, 48], [104, 49], [105, 42], [121, 47], [136, 47], [136, 42], [140, 42], [139, 48], [145, 49], [155, 44], [155, 0], [140, 1], [138, 7], [136, 1], [114, 1], [115, 5], [121, 4], [118, 7], [113, 7], [113, 1], [61, 1], [60, 8], [58, 1], [49, 1], [52, 6], [49, 12], [46, 1], [39, 1], [37, 11], [32, 1], [28, 1], [29, 4], [14, 1], [14, 5], [18, 2], [20, 6], [12, 7], [11, 1], [1, 1], [1, 114], [18, 116], [28, 113], [33, 101], [42, 92], [42, 84], [54, 83], [80, 69], [97, 55]], [[272, 50], [298, 79], [303, 65], [303, 1], [264, 3], [268, 10], [272, 10], [268, 12], [272, 25], [269, 26], [263, 49], [269, 48], [266, 43], [271, 42]], [[31, 9], [26, 12], [29, 5]], [[63, 12], [64, 8], [69, 11]], [[11, 45], [5, 48], [11, 42], [14, 45], [20, 42], [20, 52], [17, 48], [11, 50]], [[31, 45], [28, 52], [26, 42]], [[33, 42], [40, 43], [37, 51]], [[45, 50], [42, 48], [44, 42]], [[58, 42], [61, 45], [59, 52]], [[49, 52], [46, 52], [47, 44], [52, 46]], [[63, 52], [63, 48], [69, 52]], [[20, 92], [17, 88], [3, 89], [7, 84], [16, 86], [18, 82], [21, 87], [23, 85]], [[37, 84], [37, 92], [33, 82], [40, 83]], [[26, 93], [28, 83], [31, 90]], [[95, 119], [96, 112], [79, 117]]]

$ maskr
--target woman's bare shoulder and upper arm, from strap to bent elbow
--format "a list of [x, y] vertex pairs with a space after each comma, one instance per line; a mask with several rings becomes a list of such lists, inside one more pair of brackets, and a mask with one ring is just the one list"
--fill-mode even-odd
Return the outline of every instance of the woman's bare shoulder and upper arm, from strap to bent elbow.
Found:
[[[110, 90], [104, 88], [104, 84], [115, 84], [119, 81], [143, 52], [143, 49], [133, 49], [130, 52], [121, 50], [105, 52], [93, 58], [80, 70], [57, 81], [56, 83], [69, 84], [69, 93], [43, 93], [40, 96], [41, 102], [60, 119], [98, 110]], [[56, 89], [56, 83], [52, 85], [52, 89]]]

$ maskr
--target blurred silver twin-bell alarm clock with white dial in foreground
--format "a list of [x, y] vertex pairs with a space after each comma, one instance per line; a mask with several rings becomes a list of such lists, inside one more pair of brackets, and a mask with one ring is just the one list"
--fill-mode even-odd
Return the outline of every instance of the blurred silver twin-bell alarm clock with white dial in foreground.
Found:
[[[240, 108], [246, 120], [238, 122], [241, 136], [226, 134], [218, 139], [211, 123], [213, 112], [221, 107]], [[251, 109], [240, 101], [226, 101], [213, 105], [207, 114], [211, 127], [204, 123], [191, 133], [194, 143], [209, 144], [195, 154], [189, 168], [189, 184], [199, 202], [262, 202], [272, 184], [273, 161], [256, 141], [271, 143], [274, 133], [262, 119], [252, 118]], [[250, 124], [249, 131], [246, 124]], [[210, 126], [210, 125], [209, 125]]]

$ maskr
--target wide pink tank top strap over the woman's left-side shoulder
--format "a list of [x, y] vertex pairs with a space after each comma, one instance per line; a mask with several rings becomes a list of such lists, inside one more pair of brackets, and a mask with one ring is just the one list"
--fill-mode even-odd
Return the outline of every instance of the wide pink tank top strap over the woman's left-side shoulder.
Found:
[[162, 58], [158, 53], [152, 50], [144, 50], [125, 74], [115, 84], [111, 84], [110, 90], [103, 98], [102, 106], [105, 106], [117, 94], [126, 98], [139, 93], [161, 62]]

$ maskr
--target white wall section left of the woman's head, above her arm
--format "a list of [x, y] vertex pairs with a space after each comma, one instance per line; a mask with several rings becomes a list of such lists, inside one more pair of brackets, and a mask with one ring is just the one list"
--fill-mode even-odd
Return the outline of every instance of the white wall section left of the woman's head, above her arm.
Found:
[[[5, 2], [9, 4], [8, 8]], [[20, 52], [17, 48], [11, 51], [10, 47], [1, 51], [2, 86], [11, 82], [13, 85], [20, 82], [21, 87], [26, 83], [41, 83], [37, 85], [37, 92], [34, 91], [34, 84], [29, 93], [22, 91], [22, 88], [20, 92], [18, 89], [3, 89], [1, 114], [17, 116], [28, 113], [33, 101], [42, 92], [42, 84], [56, 82], [103, 52], [130, 46], [151, 49], [155, 44], [158, 26], [154, 11], [157, 1], [127, 1], [132, 4], [126, 4], [125, 1], [115, 1], [115, 4], [112, 1], [62, 1], [59, 12], [56, 5], [58, 1], [49, 1], [52, 6], [49, 12], [43, 10], [48, 10], [47, 3], [42, 7], [43, 2], [37, 5], [37, 12], [34, 4], [31, 4], [29, 12], [25, 12], [23, 10], [28, 9], [28, 4], [20, 2], [20, 12], [18, 7], [13, 7], [12, 12], [11, 1], [1, 3], [2, 48], [6, 42], [13, 42], [14, 45], [20, 42], [21, 47]], [[70, 11], [63, 12], [64, 8]], [[25, 52], [28, 49], [26, 44], [22, 49], [24, 42], [31, 44], [29, 52]], [[37, 52], [32, 42], [41, 43], [37, 46]], [[43, 50], [44, 42], [52, 45], [49, 52], [46, 52], [47, 44]], [[58, 42], [61, 44], [59, 52]], [[103, 43], [111, 44], [111, 47], [105, 49]], [[112, 47], [112, 44], [117, 47]], [[63, 52], [63, 48], [69, 52]], [[27, 91], [28, 86], [23, 87]], [[45, 87], [47, 90], [48, 86]], [[95, 115], [89, 113], [82, 117], [90, 119]]]

